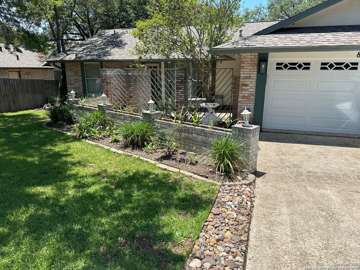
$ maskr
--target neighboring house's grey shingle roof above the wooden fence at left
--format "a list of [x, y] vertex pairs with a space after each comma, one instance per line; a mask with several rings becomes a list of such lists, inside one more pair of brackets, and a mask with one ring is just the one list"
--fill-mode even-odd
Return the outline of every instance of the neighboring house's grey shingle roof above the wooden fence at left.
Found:
[[[0, 46], [2, 47], [2, 51], [0, 51], [0, 68], [53, 68], [43, 67], [39, 59], [39, 53], [35, 50], [27, 50], [24, 46], [19, 46], [22, 53], [13, 52], [13, 54], [10, 54], [4, 48], [5, 44], [0, 44]], [[17, 55], [19, 60], [16, 57]]]

